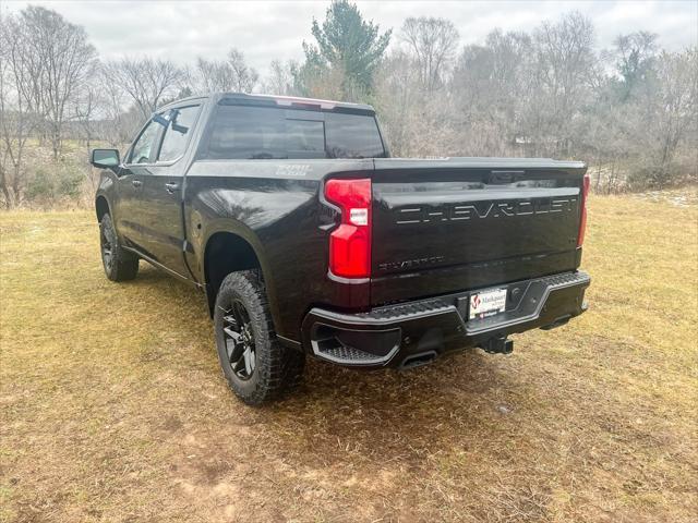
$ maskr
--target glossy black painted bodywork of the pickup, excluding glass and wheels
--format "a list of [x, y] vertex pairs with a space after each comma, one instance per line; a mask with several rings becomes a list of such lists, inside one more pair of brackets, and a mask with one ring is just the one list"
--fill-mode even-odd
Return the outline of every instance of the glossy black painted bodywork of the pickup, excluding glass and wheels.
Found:
[[[276, 332], [289, 345], [312, 352], [311, 335], [303, 333], [311, 309], [365, 315], [393, 304], [574, 273], [579, 267], [583, 163], [198, 160], [198, 144], [221, 96], [163, 109], [201, 106], [186, 153], [168, 163], [122, 163], [103, 171], [98, 214], [108, 206], [123, 245], [208, 294], [215, 289], [206, 264], [218, 263], [206, 259], [212, 239], [234, 234], [244, 241], [262, 269]], [[356, 107], [372, 114], [368, 106]], [[347, 283], [328, 273], [328, 235], [337, 222], [337, 210], [323, 197], [329, 178], [372, 180], [372, 277], [366, 281]], [[562, 308], [559, 317], [582, 312], [580, 301]]]

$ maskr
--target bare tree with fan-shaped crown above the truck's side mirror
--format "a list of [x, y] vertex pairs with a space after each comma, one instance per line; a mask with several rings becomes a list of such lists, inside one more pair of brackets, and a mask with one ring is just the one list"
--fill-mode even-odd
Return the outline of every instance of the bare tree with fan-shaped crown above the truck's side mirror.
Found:
[[169, 60], [122, 58], [104, 65], [104, 74], [124, 90], [135, 104], [141, 117], [147, 119], [161, 104], [172, 96], [183, 78], [183, 71]]

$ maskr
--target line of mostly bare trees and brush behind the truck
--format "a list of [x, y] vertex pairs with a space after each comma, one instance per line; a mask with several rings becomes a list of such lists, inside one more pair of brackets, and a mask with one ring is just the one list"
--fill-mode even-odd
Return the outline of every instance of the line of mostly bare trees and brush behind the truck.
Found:
[[493, 28], [462, 47], [446, 19], [381, 31], [346, 0], [310, 28], [304, 59], [273, 61], [261, 78], [239, 49], [184, 66], [147, 56], [101, 61], [84, 28], [50, 9], [5, 14], [2, 204], [89, 193], [87, 148], [123, 147], [159, 106], [217, 90], [372, 104], [393, 156], [576, 158], [603, 192], [697, 181], [696, 47], [669, 52], [637, 31], [599, 49], [578, 12], [530, 33]]

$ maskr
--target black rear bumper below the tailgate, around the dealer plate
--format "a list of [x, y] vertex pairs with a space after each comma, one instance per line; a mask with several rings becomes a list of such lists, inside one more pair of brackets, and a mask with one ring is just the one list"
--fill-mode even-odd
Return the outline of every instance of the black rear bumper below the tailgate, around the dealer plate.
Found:
[[303, 319], [303, 348], [344, 366], [380, 368], [426, 363], [445, 352], [485, 346], [491, 340], [535, 328], [554, 328], [586, 311], [589, 275], [565, 272], [518, 281], [507, 290], [506, 309], [468, 320], [471, 292], [448, 294], [368, 313], [311, 309]]

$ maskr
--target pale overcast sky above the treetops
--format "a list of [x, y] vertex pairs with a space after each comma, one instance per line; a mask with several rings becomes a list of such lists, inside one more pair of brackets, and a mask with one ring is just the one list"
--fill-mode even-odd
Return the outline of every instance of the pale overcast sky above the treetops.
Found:
[[[104, 59], [151, 54], [179, 63], [196, 56], [222, 58], [243, 51], [262, 74], [274, 59], [302, 59], [313, 16], [323, 20], [328, 1], [37, 1], [85, 27]], [[0, 0], [2, 11], [27, 2]], [[577, 10], [589, 16], [597, 44], [609, 47], [622, 33], [651, 31], [660, 45], [679, 50], [698, 45], [698, 0], [684, 1], [358, 1], [366, 19], [398, 32], [408, 16], [450, 19], [461, 45], [482, 42], [496, 27], [528, 31]], [[394, 42], [397, 39], [393, 39]]]

